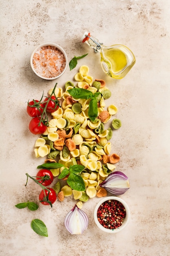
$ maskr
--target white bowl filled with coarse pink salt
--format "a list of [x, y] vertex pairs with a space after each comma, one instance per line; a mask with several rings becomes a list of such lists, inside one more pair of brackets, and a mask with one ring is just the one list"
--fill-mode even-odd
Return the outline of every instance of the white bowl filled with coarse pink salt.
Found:
[[33, 72], [42, 79], [56, 79], [66, 71], [68, 58], [60, 45], [44, 43], [31, 54], [30, 64]]

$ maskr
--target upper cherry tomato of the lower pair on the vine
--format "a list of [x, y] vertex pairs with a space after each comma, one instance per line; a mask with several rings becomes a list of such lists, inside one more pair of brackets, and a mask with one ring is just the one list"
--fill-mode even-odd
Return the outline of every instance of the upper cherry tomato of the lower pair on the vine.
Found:
[[36, 175], [36, 180], [43, 186], [49, 186], [53, 182], [53, 173], [50, 170], [41, 169]]

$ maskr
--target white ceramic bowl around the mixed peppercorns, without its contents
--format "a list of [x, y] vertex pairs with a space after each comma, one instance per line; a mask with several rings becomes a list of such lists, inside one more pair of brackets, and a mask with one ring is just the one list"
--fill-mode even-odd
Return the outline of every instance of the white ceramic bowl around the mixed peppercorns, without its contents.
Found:
[[[97, 219], [97, 210], [98, 210], [99, 206], [108, 200], [117, 200], [118, 202], [121, 202], [126, 209], [126, 217], [124, 218], [122, 225], [120, 227], [118, 227], [117, 229], [107, 229], [107, 228], [103, 227]], [[118, 198], [116, 196], [108, 196], [108, 197], [102, 198], [102, 200], [100, 200], [97, 203], [95, 210], [94, 210], [94, 219], [95, 219], [95, 223], [96, 223], [97, 227], [99, 227], [99, 229], [101, 229], [102, 231], [104, 231], [106, 233], [115, 234], [115, 233], [121, 231], [122, 229], [124, 229], [128, 225], [129, 220], [130, 220], [130, 209], [128, 207], [128, 204], [126, 204], [126, 202], [124, 200], [122, 200], [121, 198]]]

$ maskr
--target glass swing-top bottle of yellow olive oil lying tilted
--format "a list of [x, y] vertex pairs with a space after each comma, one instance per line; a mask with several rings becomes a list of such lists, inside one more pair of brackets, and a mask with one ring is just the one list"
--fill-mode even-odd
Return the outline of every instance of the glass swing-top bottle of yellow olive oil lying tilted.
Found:
[[95, 52], [100, 53], [103, 71], [115, 79], [126, 76], [136, 62], [132, 51], [124, 45], [105, 46], [87, 32], [84, 33], [82, 42], [86, 42]]

